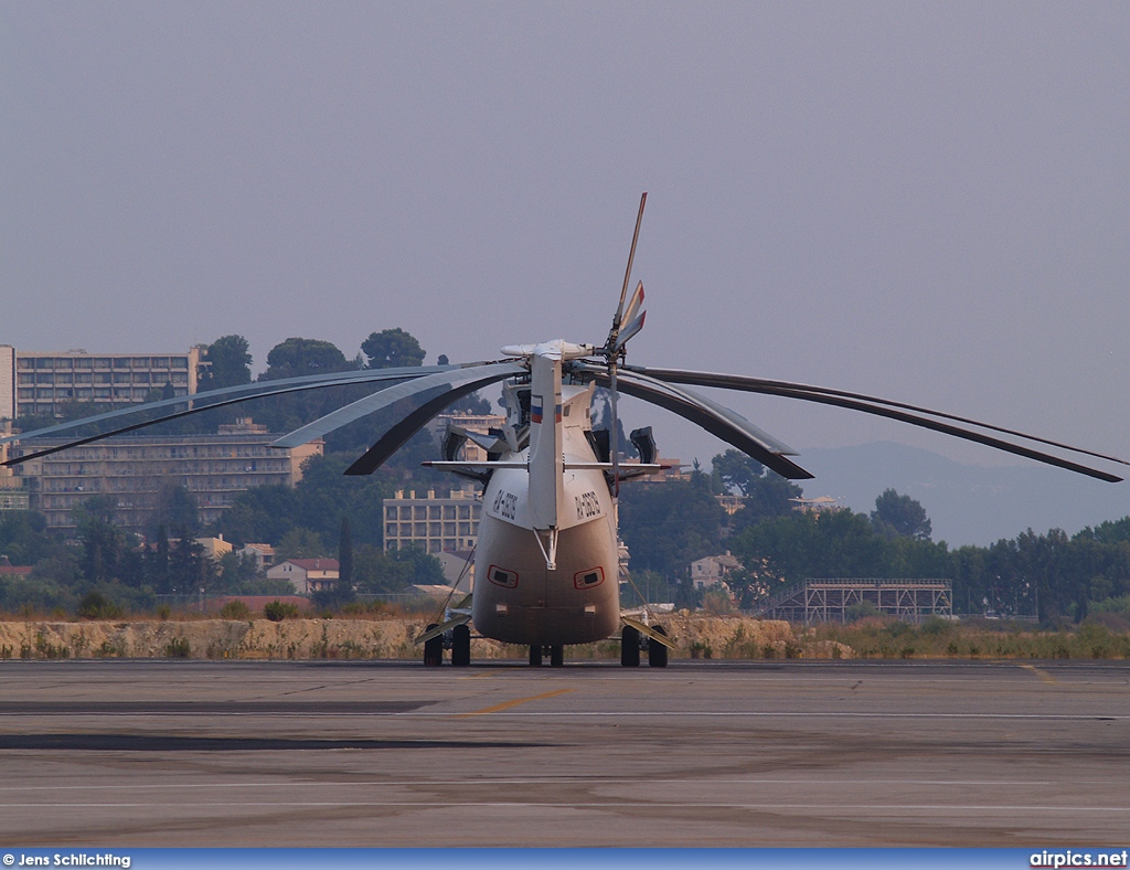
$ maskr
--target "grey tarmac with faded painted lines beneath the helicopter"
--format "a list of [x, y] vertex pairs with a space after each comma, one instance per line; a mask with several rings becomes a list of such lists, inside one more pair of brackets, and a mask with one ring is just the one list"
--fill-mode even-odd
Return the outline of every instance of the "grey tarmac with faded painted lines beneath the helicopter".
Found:
[[1130, 843], [1125, 662], [0, 662], [0, 845]]

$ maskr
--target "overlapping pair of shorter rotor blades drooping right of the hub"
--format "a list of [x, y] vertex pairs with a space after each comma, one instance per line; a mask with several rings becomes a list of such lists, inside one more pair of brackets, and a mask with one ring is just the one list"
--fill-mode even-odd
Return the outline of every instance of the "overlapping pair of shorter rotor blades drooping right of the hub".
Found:
[[[609, 380], [602, 366], [585, 365], [577, 368], [601, 386]], [[791, 452], [786, 445], [729, 408], [636, 372], [620, 372], [618, 386], [620, 392], [658, 404], [702, 426], [706, 432], [753, 456], [781, 477], [790, 480], [808, 480], [812, 477], [810, 472], [785, 459], [784, 453]]]

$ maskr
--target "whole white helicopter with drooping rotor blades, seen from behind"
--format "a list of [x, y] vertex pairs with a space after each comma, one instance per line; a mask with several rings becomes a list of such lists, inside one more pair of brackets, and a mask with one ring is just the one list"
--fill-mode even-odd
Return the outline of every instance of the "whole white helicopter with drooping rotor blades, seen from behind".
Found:
[[[905, 402], [790, 381], [628, 365], [628, 341], [640, 333], [646, 319], [643, 282], [638, 282], [631, 295], [627, 292], [646, 199], [644, 193], [619, 304], [602, 343], [551, 339], [506, 346], [502, 348], [502, 359], [257, 382], [194, 393], [189, 407], [184, 407], [183, 397], [165, 399], [2, 438], [0, 444], [29, 441], [88, 424], [114, 421], [99, 434], [33, 450], [3, 464], [14, 466], [252, 399], [370, 384], [377, 388], [371, 394], [277, 438], [271, 446], [295, 447], [362, 417], [385, 411], [394, 421], [345, 472], [371, 475], [454, 401], [502, 382], [505, 425], [483, 435], [449, 424], [442, 440], [443, 459], [425, 463], [476, 480], [484, 488], [473, 553], [476, 588], [453, 607], [445, 604], [442, 621], [431, 624], [416, 638], [424, 647], [425, 664], [441, 664], [444, 650], [450, 649], [455, 667], [470, 664], [471, 626], [481, 637], [528, 646], [532, 665], [540, 665], [548, 655], [550, 664], [559, 667], [564, 663], [566, 645], [602, 641], [617, 630], [620, 632], [623, 665], [638, 665], [641, 650], [647, 651], [651, 665], [667, 664], [672, 638], [654, 614], [646, 604], [642, 614], [624, 611], [620, 607], [619, 487], [623, 481], [667, 468], [655, 461], [658, 452], [650, 427], [629, 435], [641, 461], [620, 460], [617, 398], [621, 392], [697, 424], [771, 471], [792, 480], [812, 477], [793, 461], [798, 455], [796, 451], [690, 388], [780, 395], [862, 411], [1107, 482], [1122, 480], [1109, 471], [1045, 452], [1043, 447], [1130, 464], [1125, 460]], [[608, 429], [593, 429], [592, 404], [597, 388], [608, 390], [611, 418]], [[162, 412], [154, 417], [154, 411]], [[145, 419], [127, 425], [116, 423], [136, 415], [144, 415]], [[486, 452], [485, 461], [458, 459], [468, 441]]]

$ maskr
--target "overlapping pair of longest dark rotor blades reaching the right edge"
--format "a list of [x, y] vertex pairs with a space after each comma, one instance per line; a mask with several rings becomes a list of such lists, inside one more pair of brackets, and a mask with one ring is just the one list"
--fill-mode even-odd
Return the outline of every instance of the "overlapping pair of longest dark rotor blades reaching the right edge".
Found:
[[[906, 404], [905, 402], [895, 402], [888, 399], [878, 399], [875, 397], [863, 395], [862, 393], [850, 393], [843, 390], [832, 390], [828, 388], [810, 386], [807, 384], [790, 383], [788, 381], [770, 381], [759, 377], [744, 377], [741, 375], [727, 375], [716, 374], [712, 372], [683, 372], [677, 369], [666, 369], [666, 368], [644, 368], [642, 366], [629, 366], [625, 368], [625, 372], [631, 371], [636, 374], [647, 374], [658, 381], [663, 383], [692, 383], [698, 386], [716, 386], [727, 390], [742, 390], [745, 392], [751, 393], [763, 393], [766, 395], [781, 395], [789, 399], [802, 399], [803, 401], [818, 402], [820, 404], [832, 404], [838, 408], [849, 408], [851, 410], [863, 411], [864, 414], [871, 414], [877, 417], [887, 417], [888, 419], [899, 420], [902, 423], [909, 423], [912, 426], [919, 426], [925, 429], [932, 429], [935, 432], [940, 432], [946, 435], [951, 435], [956, 438], [963, 438], [965, 441], [972, 441], [977, 444], [984, 444], [985, 446], [993, 447], [994, 450], [1005, 451], [1006, 453], [1014, 453], [1018, 456], [1025, 456], [1026, 459], [1032, 459], [1037, 462], [1043, 462], [1044, 464], [1055, 466], [1057, 468], [1062, 468], [1068, 471], [1074, 471], [1079, 475], [1086, 475], [1087, 477], [1093, 477], [1098, 480], [1104, 480], [1110, 484], [1116, 484], [1122, 480], [1122, 478], [1111, 475], [1106, 471], [1099, 471], [1098, 469], [1089, 468], [1088, 466], [1080, 466], [1070, 460], [1062, 459], [1060, 456], [1052, 455], [1050, 453], [1043, 453], [1031, 447], [1026, 447], [1020, 444], [1012, 444], [1011, 442], [1001, 441], [991, 435], [985, 435], [980, 432], [973, 432], [971, 429], [962, 428], [958, 426], [951, 426], [946, 423], [941, 423], [940, 419], [954, 420], [955, 423], [964, 423], [971, 426], [979, 426], [991, 432], [999, 432], [1006, 435], [1012, 435], [1015, 437], [1025, 438], [1027, 441], [1033, 441], [1040, 444], [1048, 444], [1049, 446], [1059, 447], [1061, 450], [1068, 450], [1075, 453], [1080, 453], [1088, 456], [1094, 456], [1096, 459], [1107, 460], [1110, 462], [1118, 462], [1120, 464], [1130, 464], [1125, 460], [1118, 459], [1116, 456], [1107, 456], [1102, 453], [1095, 453], [1093, 451], [1084, 450], [1081, 447], [1075, 447], [1070, 444], [1061, 444], [1059, 442], [1049, 441], [1048, 438], [1041, 438], [1035, 435], [1028, 435], [1023, 432], [1016, 432], [1014, 429], [1006, 429], [1000, 426], [993, 426], [988, 423], [981, 423], [979, 420], [968, 419], [965, 417], [957, 417], [956, 415], [945, 414], [942, 411], [933, 411], [929, 408], [920, 408], [913, 404]], [[909, 414], [907, 411], [915, 411], [915, 414]], [[940, 418], [939, 420], [929, 419], [928, 417], [921, 417], [919, 415], [930, 415]]]

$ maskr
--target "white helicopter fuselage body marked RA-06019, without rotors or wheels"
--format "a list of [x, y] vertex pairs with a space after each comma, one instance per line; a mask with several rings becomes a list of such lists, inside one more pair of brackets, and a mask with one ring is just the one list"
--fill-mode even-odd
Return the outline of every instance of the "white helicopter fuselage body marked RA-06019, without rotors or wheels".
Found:
[[[531, 446], [499, 458], [527, 468], [498, 468], [487, 484], [471, 611], [485, 637], [577, 644], [609, 637], [619, 627], [616, 507], [603, 470], [592, 468], [597, 455], [585, 435], [592, 392], [558, 382], [557, 400], [546, 395], [540, 408], [536, 397]], [[539, 428], [546, 433], [542, 447], [547, 442], [559, 447], [559, 462], [551, 463], [553, 473], [559, 473], [556, 485], [539, 479], [533, 455]], [[554, 496], [551, 528], [545, 504], [538, 504], [547, 491]]]

